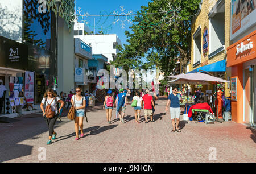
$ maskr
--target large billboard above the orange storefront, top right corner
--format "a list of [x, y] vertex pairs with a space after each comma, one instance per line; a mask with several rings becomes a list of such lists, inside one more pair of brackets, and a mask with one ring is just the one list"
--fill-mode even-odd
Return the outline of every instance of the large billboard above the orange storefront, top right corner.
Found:
[[232, 0], [230, 15], [230, 40], [241, 35], [256, 23], [256, 0]]

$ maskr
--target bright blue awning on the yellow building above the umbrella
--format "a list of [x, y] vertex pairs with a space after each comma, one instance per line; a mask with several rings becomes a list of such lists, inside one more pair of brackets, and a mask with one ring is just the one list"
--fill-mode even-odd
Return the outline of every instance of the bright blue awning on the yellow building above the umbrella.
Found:
[[216, 63], [212, 63], [209, 65], [205, 65], [203, 67], [199, 67], [194, 69], [188, 73], [199, 72], [199, 70], [207, 71], [207, 72], [225, 72], [226, 71], [226, 60], [217, 61]]

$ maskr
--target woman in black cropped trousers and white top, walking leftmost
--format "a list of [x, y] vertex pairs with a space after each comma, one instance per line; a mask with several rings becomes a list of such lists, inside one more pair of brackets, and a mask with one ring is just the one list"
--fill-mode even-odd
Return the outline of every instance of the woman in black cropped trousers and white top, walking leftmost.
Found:
[[[57, 102], [61, 104], [59, 110], [57, 110]], [[46, 107], [48, 105], [51, 105], [51, 110], [55, 111], [55, 115], [52, 118], [46, 117], [46, 111], [44, 110], [43, 105], [46, 105]], [[64, 105], [64, 102], [60, 100], [59, 97], [57, 97], [57, 94], [51, 88], [48, 88], [44, 93], [44, 98], [40, 105], [41, 110], [43, 111], [43, 116], [46, 119], [46, 123], [49, 127], [49, 140], [46, 143], [47, 145], [52, 143], [52, 139], [53, 140], [56, 139], [57, 133], [54, 131], [54, 125], [58, 118], [58, 114], [60, 113], [60, 110], [63, 108], [63, 105]]]

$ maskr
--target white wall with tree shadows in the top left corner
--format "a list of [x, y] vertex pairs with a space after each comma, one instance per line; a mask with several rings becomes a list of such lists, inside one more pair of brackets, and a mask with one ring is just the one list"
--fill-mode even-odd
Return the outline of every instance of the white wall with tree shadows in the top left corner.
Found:
[[0, 35], [22, 40], [22, 0], [0, 0]]

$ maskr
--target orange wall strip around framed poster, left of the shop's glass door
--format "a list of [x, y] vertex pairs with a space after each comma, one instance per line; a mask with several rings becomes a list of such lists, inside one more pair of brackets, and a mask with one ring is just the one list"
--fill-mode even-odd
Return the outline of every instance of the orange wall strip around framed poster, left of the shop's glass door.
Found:
[[243, 64], [232, 67], [231, 78], [237, 77], [237, 101], [231, 101], [232, 120], [243, 122]]

